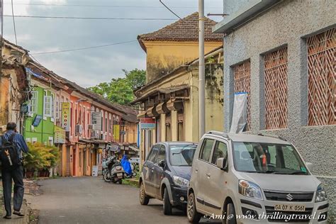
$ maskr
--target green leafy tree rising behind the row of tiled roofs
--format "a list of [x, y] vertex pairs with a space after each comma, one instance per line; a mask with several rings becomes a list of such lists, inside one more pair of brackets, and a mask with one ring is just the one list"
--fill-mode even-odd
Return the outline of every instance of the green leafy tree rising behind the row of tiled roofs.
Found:
[[133, 101], [133, 90], [143, 86], [146, 82], [146, 71], [140, 69], [133, 69], [128, 72], [123, 69], [125, 77], [118, 79], [111, 79], [111, 82], [101, 82], [96, 86], [89, 87], [89, 91], [103, 96], [112, 103], [119, 103], [122, 105]]

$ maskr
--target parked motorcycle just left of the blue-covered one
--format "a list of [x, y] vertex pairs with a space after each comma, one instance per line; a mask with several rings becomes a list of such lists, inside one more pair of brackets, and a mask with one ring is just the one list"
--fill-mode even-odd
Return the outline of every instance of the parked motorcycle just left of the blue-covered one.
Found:
[[122, 184], [125, 178], [125, 171], [121, 167], [121, 162], [117, 157], [108, 157], [103, 161], [103, 180], [106, 182], [113, 182]]

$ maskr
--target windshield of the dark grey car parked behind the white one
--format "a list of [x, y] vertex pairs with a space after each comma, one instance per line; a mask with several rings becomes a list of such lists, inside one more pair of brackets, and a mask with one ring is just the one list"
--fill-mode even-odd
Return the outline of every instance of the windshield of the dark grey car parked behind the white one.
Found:
[[191, 166], [197, 145], [170, 145], [169, 156], [172, 166]]

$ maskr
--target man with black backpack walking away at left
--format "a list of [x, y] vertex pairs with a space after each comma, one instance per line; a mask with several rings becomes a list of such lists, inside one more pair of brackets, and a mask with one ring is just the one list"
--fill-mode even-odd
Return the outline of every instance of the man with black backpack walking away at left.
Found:
[[11, 185], [14, 181], [13, 214], [24, 216], [20, 212], [24, 186], [22, 152], [28, 152], [28, 146], [23, 136], [17, 133], [16, 123], [10, 122], [6, 126], [6, 133], [0, 138], [1, 162], [2, 162], [2, 186], [4, 188], [4, 204], [6, 215], [11, 219]]

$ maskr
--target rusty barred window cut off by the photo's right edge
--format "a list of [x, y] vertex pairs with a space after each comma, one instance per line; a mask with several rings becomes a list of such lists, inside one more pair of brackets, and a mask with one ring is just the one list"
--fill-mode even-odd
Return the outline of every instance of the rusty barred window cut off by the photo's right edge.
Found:
[[308, 38], [307, 50], [308, 125], [335, 125], [335, 28]]

